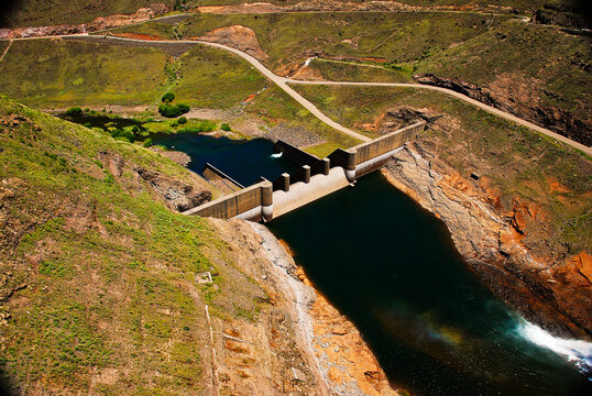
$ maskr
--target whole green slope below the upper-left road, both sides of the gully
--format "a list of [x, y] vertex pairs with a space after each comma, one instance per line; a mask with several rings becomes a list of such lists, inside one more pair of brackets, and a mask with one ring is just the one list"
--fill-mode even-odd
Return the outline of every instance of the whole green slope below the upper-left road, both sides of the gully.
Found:
[[150, 106], [173, 90], [189, 105], [227, 108], [265, 84], [220, 50], [198, 46], [175, 59], [155, 48], [62, 40], [14, 42], [0, 73], [0, 92], [42, 107]]

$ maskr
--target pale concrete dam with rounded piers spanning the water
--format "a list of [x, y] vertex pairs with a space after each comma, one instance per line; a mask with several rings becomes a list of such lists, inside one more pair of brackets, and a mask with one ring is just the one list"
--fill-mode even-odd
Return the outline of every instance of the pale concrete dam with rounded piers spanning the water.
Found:
[[233, 193], [189, 209], [184, 215], [270, 221], [380, 169], [405, 143], [424, 131], [425, 125], [425, 121], [419, 121], [354, 147], [338, 148], [326, 158], [318, 158], [286, 142], [277, 141], [274, 152], [282, 153], [302, 166], [292, 174], [282, 174], [273, 182], [262, 177], [259, 183], [245, 188], [207, 164], [205, 175], [207, 173], [226, 179], [233, 186]]

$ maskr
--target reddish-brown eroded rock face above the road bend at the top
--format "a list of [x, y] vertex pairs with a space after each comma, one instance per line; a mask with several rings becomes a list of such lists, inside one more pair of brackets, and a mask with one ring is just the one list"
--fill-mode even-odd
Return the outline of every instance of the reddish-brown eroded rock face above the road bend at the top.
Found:
[[194, 38], [228, 45], [253, 56], [257, 61], [265, 61], [268, 57], [267, 54], [261, 50], [255, 32], [243, 25], [218, 28], [202, 36]]

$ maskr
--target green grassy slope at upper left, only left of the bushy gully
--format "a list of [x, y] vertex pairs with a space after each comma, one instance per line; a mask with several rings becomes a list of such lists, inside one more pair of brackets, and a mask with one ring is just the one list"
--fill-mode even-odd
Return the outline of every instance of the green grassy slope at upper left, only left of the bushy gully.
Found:
[[19, 41], [0, 63], [0, 92], [32, 106], [150, 105], [166, 89], [169, 63], [152, 48]]

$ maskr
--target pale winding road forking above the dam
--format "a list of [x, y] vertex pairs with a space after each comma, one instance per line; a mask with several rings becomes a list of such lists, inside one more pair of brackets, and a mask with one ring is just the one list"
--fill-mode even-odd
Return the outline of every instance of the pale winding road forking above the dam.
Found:
[[[85, 38], [90, 38], [90, 37], [97, 37], [98, 40], [112, 40], [112, 41], [127, 41], [127, 42], [135, 42], [135, 43], [167, 43], [167, 44], [172, 44], [172, 43], [179, 43], [179, 44], [196, 44], [196, 45], [208, 45], [208, 46], [211, 46], [211, 47], [216, 47], [216, 48], [220, 48], [220, 50], [224, 50], [224, 51], [228, 51], [230, 53], [233, 53], [240, 57], [242, 57], [243, 59], [245, 59], [246, 62], [249, 62], [251, 65], [253, 65], [253, 67], [255, 67], [261, 74], [263, 74], [265, 77], [267, 77], [270, 80], [272, 80], [275, 85], [277, 85], [279, 88], [282, 88], [286, 94], [288, 94], [290, 97], [293, 97], [298, 103], [300, 103], [302, 106], [305, 107], [305, 109], [307, 109], [308, 111], [310, 111], [310, 113], [313, 113], [316, 118], [318, 118], [320, 121], [325, 122], [327, 125], [342, 132], [342, 133], [346, 133], [359, 141], [362, 141], [362, 142], [369, 142], [371, 139], [368, 138], [368, 136], [364, 136], [363, 134], [359, 133], [359, 132], [355, 132], [355, 131], [352, 131], [351, 129], [349, 128], [346, 128], [341, 124], [339, 124], [338, 122], [331, 120], [329, 117], [327, 117], [325, 113], [322, 113], [319, 109], [317, 109], [317, 107], [315, 105], [313, 105], [310, 101], [308, 101], [306, 98], [304, 98], [300, 94], [296, 92], [292, 87], [289, 87], [288, 84], [293, 84], [293, 85], [335, 85], [335, 86], [361, 86], [361, 87], [406, 87], [406, 88], [417, 88], [417, 89], [430, 89], [430, 90], [436, 90], [436, 91], [440, 91], [440, 92], [443, 92], [446, 95], [449, 95], [449, 96], [452, 96], [454, 98], [458, 98], [467, 103], [470, 103], [470, 105], [473, 105], [473, 106], [476, 106], [479, 107], [480, 109], [489, 112], [489, 113], [492, 113], [494, 116], [497, 116], [497, 117], [501, 117], [503, 119], [506, 119], [506, 120], [509, 120], [509, 121], [513, 121], [517, 124], [520, 124], [523, 127], [526, 127], [526, 128], [529, 128], [536, 132], [539, 132], [539, 133], [542, 133], [547, 136], [550, 136], [559, 142], [562, 142], [562, 143], [566, 143], [570, 146], [572, 146], [573, 148], [577, 148], [577, 150], [580, 150], [582, 152], [584, 152], [585, 154], [592, 156], [592, 147], [589, 147], [584, 144], [581, 144], [581, 143], [578, 143], [571, 139], [568, 139], [566, 136], [562, 136], [556, 132], [552, 132], [546, 128], [542, 128], [542, 127], [539, 127], [539, 125], [536, 125], [529, 121], [526, 121], [526, 120], [523, 120], [514, 114], [511, 114], [508, 112], [505, 112], [503, 110], [500, 110], [500, 109], [496, 109], [492, 106], [489, 106], [489, 105], [485, 105], [485, 103], [482, 103], [475, 99], [472, 99], [465, 95], [462, 95], [460, 92], [457, 92], [454, 90], [451, 90], [451, 89], [447, 89], [447, 88], [441, 88], [441, 87], [435, 87], [435, 86], [429, 86], [429, 85], [421, 85], [421, 84], [413, 84], [413, 82], [352, 82], [352, 81], [307, 81], [307, 80], [294, 80], [294, 79], [289, 79], [289, 78], [285, 78], [285, 77], [281, 77], [281, 76], [277, 76], [275, 75], [272, 70], [270, 70], [268, 68], [266, 68], [265, 66], [263, 66], [263, 64], [261, 62], [259, 62], [256, 58], [254, 58], [253, 56], [240, 51], [240, 50], [237, 50], [237, 48], [232, 48], [228, 45], [223, 45], [223, 44], [218, 44], [218, 43], [210, 43], [210, 42], [205, 42], [205, 41], [193, 41], [193, 40], [155, 40], [155, 41], [145, 41], [145, 40], [138, 40], [138, 38], [127, 38], [127, 37], [117, 37], [117, 36], [105, 36], [105, 37], [101, 37], [101, 36], [90, 36], [90, 35], [87, 35], [87, 34], [70, 34], [70, 35], [62, 35], [62, 36], [51, 36], [51, 37], [63, 37], [63, 38], [81, 38], [81, 37], [85, 37]], [[51, 37], [46, 37], [46, 38], [51, 38]], [[42, 38], [42, 37], [35, 37], [35, 38]], [[29, 40], [29, 38], [17, 38], [17, 40]]]

